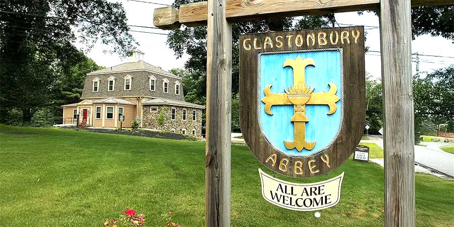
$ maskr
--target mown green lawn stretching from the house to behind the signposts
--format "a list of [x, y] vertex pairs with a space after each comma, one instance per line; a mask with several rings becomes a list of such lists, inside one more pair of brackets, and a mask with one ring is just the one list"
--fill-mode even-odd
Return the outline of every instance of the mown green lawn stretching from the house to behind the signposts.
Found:
[[[175, 212], [186, 227], [203, 226], [205, 144], [63, 129], [0, 126], [0, 223], [12, 226], [101, 226], [134, 208], [146, 226]], [[341, 201], [314, 212], [286, 210], [261, 196], [260, 164], [246, 146], [232, 146], [232, 226], [383, 226], [383, 168], [352, 161]], [[279, 179], [317, 182], [311, 179]], [[454, 182], [416, 175], [417, 226], [454, 224]]]

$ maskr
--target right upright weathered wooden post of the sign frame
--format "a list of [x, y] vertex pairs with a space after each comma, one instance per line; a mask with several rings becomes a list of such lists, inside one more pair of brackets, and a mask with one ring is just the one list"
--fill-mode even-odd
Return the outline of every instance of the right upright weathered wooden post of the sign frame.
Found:
[[407, 1], [380, 4], [386, 227], [415, 226], [414, 110], [411, 9]]

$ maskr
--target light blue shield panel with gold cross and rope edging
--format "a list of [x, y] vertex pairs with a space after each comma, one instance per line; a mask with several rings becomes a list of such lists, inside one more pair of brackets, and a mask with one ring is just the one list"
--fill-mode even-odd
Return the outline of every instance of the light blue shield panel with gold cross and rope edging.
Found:
[[258, 55], [257, 117], [267, 142], [294, 157], [318, 154], [343, 125], [342, 48]]

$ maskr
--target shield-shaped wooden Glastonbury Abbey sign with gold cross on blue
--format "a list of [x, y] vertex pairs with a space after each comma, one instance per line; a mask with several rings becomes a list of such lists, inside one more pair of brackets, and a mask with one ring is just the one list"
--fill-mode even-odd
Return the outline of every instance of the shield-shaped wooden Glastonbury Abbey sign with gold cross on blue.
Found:
[[255, 157], [289, 177], [332, 171], [365, 121], [364, 29], [240, 36], [240, 123]]

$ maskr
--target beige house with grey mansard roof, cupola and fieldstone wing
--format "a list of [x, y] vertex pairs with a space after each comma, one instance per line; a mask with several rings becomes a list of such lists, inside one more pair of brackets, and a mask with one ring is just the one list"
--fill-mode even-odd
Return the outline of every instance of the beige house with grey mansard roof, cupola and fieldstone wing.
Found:
[[[145, 63], [136, 51], [129, 62], [87, 74], [82, 101], [62, 105], [63, 124], [131, 127], [201, 136], [203, 105], [184, 101], [180, 77]], [[161, 116], [161, 117], [160, 117]], [[161, 121], [158, 121], [158, 118]]]

